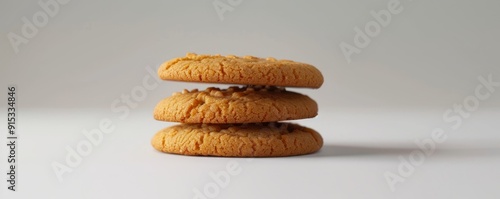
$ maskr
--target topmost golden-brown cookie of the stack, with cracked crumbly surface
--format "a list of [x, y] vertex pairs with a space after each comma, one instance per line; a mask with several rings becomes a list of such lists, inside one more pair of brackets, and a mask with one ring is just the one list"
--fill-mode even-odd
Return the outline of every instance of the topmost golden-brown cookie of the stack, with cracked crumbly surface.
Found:
[[323, 75], [312, 65], [290, 60], [187, 53], [163, 63], [163, 80], [319, 88]]

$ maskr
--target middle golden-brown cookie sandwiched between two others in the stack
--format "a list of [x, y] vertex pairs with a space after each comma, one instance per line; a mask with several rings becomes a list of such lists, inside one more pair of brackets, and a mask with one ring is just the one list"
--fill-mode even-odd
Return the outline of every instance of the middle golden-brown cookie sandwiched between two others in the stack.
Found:
[[158, 103], [154, 118], [182, 123], [257, 123], [315, 117], [318, 105], [306, 95], [270, 86], [184, 90]]

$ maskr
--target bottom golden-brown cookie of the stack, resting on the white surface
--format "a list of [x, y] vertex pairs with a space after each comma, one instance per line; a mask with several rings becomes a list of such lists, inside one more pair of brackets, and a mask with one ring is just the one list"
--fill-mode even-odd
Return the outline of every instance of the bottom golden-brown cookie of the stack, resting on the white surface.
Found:
[[323, 138], [291, 123], [180, 124], [159, 131], [151, 144], [182, 155], [275, 157], [316, 152]]

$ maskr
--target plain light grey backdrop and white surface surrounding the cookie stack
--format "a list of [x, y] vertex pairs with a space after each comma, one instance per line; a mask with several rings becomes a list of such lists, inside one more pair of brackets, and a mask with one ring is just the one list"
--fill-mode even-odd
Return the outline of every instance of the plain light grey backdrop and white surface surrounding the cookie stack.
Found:
[[[370, 11], [387, 9], [390, 1], [220, 2], [232, 9], [223, 20], [211, 0], [72, 0], [58, 4], [16, 53], [8, 35], [22, 36], [23, 17], [33, 22], [44, 10], [38, 1], [2, 1], [1, 109], [6, 112], [7, 86], [16, 85], [20, 137], [18, 191], [1, 181], [2, 198], [193, 198], [193, 190], [214, 182], [210, 173], [233, 161], [241, 172], [217, 198], [500, 197], [500, 87], [457, 128], [443, 119], [475, 96], [479, 77], [500, 81], [500, 3], [401, 0], [402, 11], [348, 63], [339, 44], [354, 45], [355, 27], [375, 21]], [[324, 148], [251, 161], [156, 152], [151, 137], [174, 124], [152, 118], [156, 103], [183, 88], [214, 86], [156, 82], [148, 73], [186, 52], [272, 56], [318, 67], [325, 77], [320, 89], [292, 90], [318, 102], [318, 117], [295, 122], [319, 131]], [[144, 78], [158, 86], [127, 106], [129, 114], [114, 111], [113, 102], [143, 86]], [[52, 164], [65, 164], [66, 148], [86, 140], [82, 132], [103, 119], [112, 121], [112, 133], [58, 181]], [[419, 151], [415, 140], [430, 138], [436, 128], [445, 142], [391, 191], [384, 173], [397, 174], [400, 157]], [[0, 148], [4, 175], [5, 144]]]

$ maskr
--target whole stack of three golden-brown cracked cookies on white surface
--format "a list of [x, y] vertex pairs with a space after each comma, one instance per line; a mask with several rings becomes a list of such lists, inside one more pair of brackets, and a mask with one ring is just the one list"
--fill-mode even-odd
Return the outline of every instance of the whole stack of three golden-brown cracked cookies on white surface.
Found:
[[289, 60], [188, 53], [163, 63], [163, 80], [241, 86], [174, 93], [154, 110], [160, 121], [180, 122], [159, 131], [151, 144], [182, 155], [274, 157], [302, 155], [323, 146], [313, 129], [280, 122], [315, 117], [318, 105], [284, 87], [319, 88], [321, 72]]

